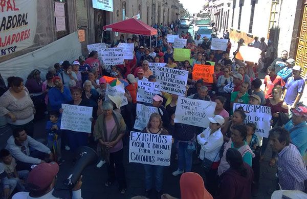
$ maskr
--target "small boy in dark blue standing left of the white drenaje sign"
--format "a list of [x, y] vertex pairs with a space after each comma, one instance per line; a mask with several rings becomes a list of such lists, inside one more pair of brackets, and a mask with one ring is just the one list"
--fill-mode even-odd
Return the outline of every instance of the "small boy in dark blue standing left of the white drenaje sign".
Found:
[[49, 121], [46, 124], [47, 132], [47, 147], [51, 149], [54, 154], [54, 160], [59, 162], [61, 158], [61, 120], [59, 120], [59, 113], [52, 111], [49, 113]]

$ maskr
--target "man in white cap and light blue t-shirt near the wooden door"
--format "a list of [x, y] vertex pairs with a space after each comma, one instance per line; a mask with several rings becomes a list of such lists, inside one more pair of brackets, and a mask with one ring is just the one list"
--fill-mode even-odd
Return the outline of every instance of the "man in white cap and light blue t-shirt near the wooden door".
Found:
[[302, 97], [305, 82], [300, 76], [301, 67], [294, 66], [292, 70], [292, 77], [287, 81], [286, 90], [284, 90], [284, 102], [287, 103], [289, 107], [289, 116], [292, 114], [291, 109], [295, 108]]

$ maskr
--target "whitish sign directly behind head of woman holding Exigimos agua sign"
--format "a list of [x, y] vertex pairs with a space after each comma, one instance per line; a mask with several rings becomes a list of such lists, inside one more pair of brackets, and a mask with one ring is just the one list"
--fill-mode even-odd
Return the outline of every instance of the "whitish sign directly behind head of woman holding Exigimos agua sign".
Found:
[[137, 104], [137, 117], [134, 128], [142, 131], [147, 126], [152, 113], [158, 113], [158, 108]]

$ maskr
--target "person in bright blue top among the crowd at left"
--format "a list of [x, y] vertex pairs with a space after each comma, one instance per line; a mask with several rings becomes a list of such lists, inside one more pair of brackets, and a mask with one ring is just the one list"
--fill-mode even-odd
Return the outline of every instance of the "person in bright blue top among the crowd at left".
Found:
[[69, 88], [63, 85], [60, 77], [55, 76], [53, 77], [52, 81], [55, 87], [48, 91], [49, 103], [47, 109], [59, 111], [59, 109], [62, 107], [62, 104], [68, 104], [73, 100], [73, 98]]

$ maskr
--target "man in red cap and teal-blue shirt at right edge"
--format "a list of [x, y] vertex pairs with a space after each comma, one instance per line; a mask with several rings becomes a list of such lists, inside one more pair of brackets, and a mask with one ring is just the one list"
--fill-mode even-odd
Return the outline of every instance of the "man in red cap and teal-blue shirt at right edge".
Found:
[[301, 156], [304, 156], [307, 149], [307, 108], [299, 106], [291, 112], [292, 120], [284, 128], [290, 132], [291, 143], [297, 147]]

